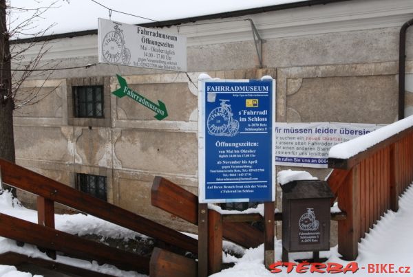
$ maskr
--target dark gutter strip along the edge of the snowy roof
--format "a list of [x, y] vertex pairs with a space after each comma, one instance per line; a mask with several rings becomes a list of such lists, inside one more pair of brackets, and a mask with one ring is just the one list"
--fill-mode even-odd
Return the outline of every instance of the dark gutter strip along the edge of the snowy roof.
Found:
[[[235, 16], [245, 16], [245, 15], [250, 15], [250, 14], [260, 14], [263, 12], [273, 12], [277, 10], [310, 7], [312, 5], [326, 5], [328, 3], [337, 3], [337, 2], [343, 2], [343, 1], [351, 1], [351, 0], [306, 0], [306, 1], [299, 1], [295, 3], [285, 3], [281, 5], [269, 5], [269, 6], [260, 7], [260, 8], [235, 10], [233, 12], [221, 12], [218, 14], [207, 14], [207, 15], [202, 15], [202, 16], [187, 17], [185, 19], [173, 19], [173, 20], [167, 20], [167, 21], [158, 21], [158, 22], [143, 23], [143, 24], [136, 24], [136, 25], [140, 25], [142, 27], [171, 27], [173, 25], [193, 23], [196, 21], [211, 20], [211, 19], [226, 19], [226, 18], [235, 17]], [[33, 38], [21, 38], [21, 39], [11, 40], [10, 44], [51, 41], [53, 39], [59, 39], [59, 38], [73, 38], [76, 36], [87, 36], [87, 35], [94, 35], [94, 34], [98, 34], [97, 29], [78, 31], [78, 32], [68, 32], [64, 34], [52, 34], [49, 36], [37, 36]]]

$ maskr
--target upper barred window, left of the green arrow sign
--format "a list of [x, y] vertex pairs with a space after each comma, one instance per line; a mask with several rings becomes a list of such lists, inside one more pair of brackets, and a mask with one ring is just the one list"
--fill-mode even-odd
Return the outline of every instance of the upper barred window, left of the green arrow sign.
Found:
[[72, 88], [75, 118], [104, 118], [103, 86]]

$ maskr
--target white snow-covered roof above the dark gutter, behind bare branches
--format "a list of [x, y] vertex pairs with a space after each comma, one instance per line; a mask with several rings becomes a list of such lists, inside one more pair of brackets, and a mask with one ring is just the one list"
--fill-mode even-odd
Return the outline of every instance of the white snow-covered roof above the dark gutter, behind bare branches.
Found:
[[[100, 3], [95, 3], [94, 1]], [[182, 19], [205, 14], [215, 14], [234, 10], [244, 10], [248, 8], [258, 8], [268, 5], [278, 5], [283, 3], [300, 2], [304, 0], [10, 0], [10, 6], [17, 8], [33, 9], [48, 7], [51, 3], [54, 8], [50, 8], [42, 14], [42, 19], [32, 22], [32, 29], [28, 34], [19, 38], [30, 37], [30, 34], [39, 30], [45, 30], [48, 26], [55, 24], [50, 31], [45, 34], [61, 34], [65, 32], [75, 32], [81, 30], [94, 30], [98, 28], [98, 18], [109, 19], [109, 10], [118, 10], [155, 21], [165, 21], [170, 19]], [[104, 8], [104, 5], [107, 8]], [[11, 16], [12, 26], [26, 19], [33, 10], [27, 12], [14, 12]], [[147, 19], [140, 19], [136, 16], [129, 16], [112, 12], [111, 19], [129, 24], [153, 22]]]

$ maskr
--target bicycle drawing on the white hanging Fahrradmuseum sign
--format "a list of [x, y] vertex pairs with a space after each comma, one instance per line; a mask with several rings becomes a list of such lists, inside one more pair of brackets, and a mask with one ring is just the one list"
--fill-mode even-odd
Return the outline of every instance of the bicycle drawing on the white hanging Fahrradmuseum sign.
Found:
[[131, 60], [131, 51], [125, 47], [125, 37], [123, 30], [120, 30], [120, 23], [114, 22], [114, 31], [105, 34], [102, 42], [102, 55], [107, 63], [120, 63], [129, 65]]

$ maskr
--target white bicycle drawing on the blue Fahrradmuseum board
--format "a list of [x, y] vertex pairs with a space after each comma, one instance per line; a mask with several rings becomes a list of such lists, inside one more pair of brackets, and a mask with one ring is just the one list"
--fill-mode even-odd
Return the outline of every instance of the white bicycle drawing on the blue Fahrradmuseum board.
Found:
[[229, 100], [220, 99], [220, 107], [216, 107], [209, 113], [207, 128], [209, 135], [224, 135], [233, 137], [239, 133], [240, 122], [233, 119], [231, 105], [226, 104]]

